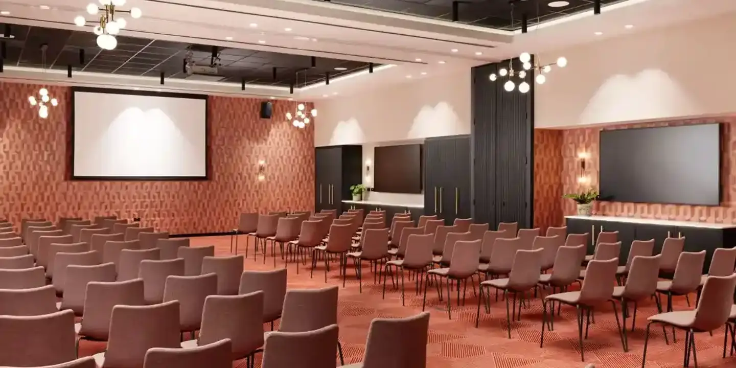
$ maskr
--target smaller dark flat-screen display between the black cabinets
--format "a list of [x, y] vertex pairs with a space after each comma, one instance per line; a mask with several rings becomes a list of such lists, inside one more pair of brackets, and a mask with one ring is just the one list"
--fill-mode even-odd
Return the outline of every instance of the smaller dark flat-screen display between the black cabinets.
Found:
[[375, 147], [373, 190], [422, 193], [422, 145]]

